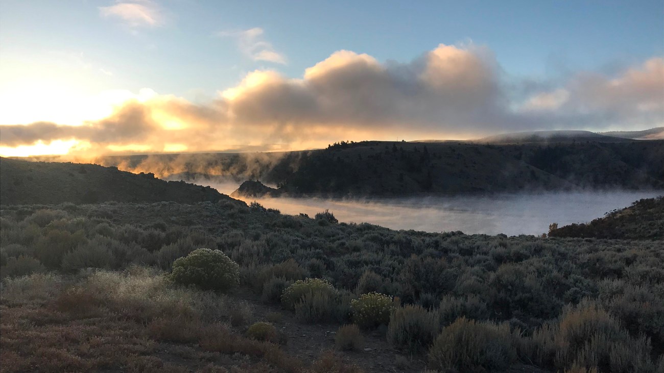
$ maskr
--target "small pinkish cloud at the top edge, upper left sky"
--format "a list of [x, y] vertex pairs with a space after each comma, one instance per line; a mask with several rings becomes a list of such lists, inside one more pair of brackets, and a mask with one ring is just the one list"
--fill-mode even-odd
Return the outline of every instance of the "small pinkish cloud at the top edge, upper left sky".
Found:
[[99, 13], [102, 17], [119, 18], [131, 28], [159, 27], [165, 23], [161, 8], [151, 0], [118, 0], [115, 5], [99, 7]]

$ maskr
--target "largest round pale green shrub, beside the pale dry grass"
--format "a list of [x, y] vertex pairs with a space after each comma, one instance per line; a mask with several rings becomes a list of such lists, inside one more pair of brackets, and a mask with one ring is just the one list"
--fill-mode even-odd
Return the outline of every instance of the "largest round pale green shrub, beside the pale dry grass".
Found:
[[204, 290], [226, 291], [240, 284], [240, 266], [220, 250], [197, 249], [173, 262], [171, 279]]

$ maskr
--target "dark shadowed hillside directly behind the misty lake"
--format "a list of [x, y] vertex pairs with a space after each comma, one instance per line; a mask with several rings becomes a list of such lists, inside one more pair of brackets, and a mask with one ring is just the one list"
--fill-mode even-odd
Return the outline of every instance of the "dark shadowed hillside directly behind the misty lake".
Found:
[[262, 181], [295, 196], [661, 189], [664, 141], [340, 143], [297, 157], [286, 155]]

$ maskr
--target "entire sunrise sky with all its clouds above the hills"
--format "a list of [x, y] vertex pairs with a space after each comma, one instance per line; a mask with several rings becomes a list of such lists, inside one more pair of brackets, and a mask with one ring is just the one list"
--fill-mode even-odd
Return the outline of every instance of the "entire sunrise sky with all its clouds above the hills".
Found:
[[661, 0], [0, 0], [5, 156], [661, 125]]

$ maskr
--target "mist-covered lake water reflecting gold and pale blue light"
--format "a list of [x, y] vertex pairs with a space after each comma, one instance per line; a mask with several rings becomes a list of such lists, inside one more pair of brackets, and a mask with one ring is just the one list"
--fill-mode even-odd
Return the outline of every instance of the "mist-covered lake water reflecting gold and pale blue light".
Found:
[[[197, 183], [198, 184], [198, 183]], [[208, 183], [224, 194], [236, 184]], [[493, 196], [431, 196], [420, 198], [344, 199], [246, 198], [283, 214], [300, 212], [313, 216], [325, 209], [340, 222], [369, 222], [396, 230], [426, 232], [461, 230], [466, 234], [542, 234], [548, 225], [590, 222], [616, 208], [661, 191], [543, 192], [538, 194], [497, 194]]]

